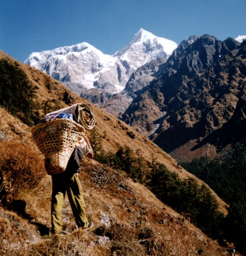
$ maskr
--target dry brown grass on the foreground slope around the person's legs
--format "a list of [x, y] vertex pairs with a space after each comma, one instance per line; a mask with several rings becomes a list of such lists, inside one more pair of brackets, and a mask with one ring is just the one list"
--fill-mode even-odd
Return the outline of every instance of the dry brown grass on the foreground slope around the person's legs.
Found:
[[[99, 186], [95, 173], [106, 176], [109, 182]], [[32, 222], [11, 212], [3, 215], [0, 237], [7, 241], [3, 242], [7, 249], [6, 255], [226, 255], [226, 248], [205, 236], [201, 230], [124, 173], [117, 173], [94, 160], [84, 160], [80, 179], [87, 217], [95, 224], [93, 230], [75, 229], [66, 197], [63, 229], [72, 233], [57, 237], [40, 236], [33, 223], [50, 228], [51, 221], [51, 179], [46, 175], [36, 188], [22, 191], [19, 195], [27, 203], [26, 211], [34, 218]], [[119, 184], [123, 184], [125, 189], [121, 189]], [[15, 224], [12, 225], [22, 230], [18, 229], [13, 234], [11, 229], [5, 229], [5, 223], [12, 218], [9, 214], [15, 216]], [[108, 218], [108, 222], [102, 221], [103, 215]]]

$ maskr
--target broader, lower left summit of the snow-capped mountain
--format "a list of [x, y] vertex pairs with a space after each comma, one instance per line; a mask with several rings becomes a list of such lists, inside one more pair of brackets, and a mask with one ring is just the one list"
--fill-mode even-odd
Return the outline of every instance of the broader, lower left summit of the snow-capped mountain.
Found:
[[32, 53], [25, 63], [67, 84], [78, 84], [84, 90], [93, 88], [100, 74], [108, 72], [117, 58], [104, 54], [83, 42], [50, 51]]

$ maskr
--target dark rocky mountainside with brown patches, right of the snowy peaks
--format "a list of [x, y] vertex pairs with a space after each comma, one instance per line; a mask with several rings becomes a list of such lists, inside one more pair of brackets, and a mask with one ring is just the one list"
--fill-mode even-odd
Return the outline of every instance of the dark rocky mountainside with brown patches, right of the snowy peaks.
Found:
[[245, 42], [209, 35], [184, 41], [122, 119], [178, 160], [214, 157], [214, 142], [191, 149], [233, 116], [245, 95], [245, 63]]

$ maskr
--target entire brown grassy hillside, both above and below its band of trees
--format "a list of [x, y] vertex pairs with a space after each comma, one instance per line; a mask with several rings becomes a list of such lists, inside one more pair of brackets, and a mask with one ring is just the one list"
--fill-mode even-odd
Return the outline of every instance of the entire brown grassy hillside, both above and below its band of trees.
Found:
[[[39, 88], [37, 89], [37, 100], [40, 102], [50, 99], [53, 104], [58, 102], [61, 107], [65, 107], [64, 95], [69, 94], [69, 99], [72, 101], [69, 104], [76, 102], [89, 104], [83, 98], [69, 92], [58, 81], [28, 65], [15, 62], [1, 51], [0, 58], [17, 63], [26, 72], [30, 81]], [[92, 104], [91, 107], [95, 111], [96, 128], [100, 133], [104, 131], [107, 133], [107, 139], [103, 140], [105, 150], [116, 152], [120, 145], [127, 145], [133, 150], [141, 148], [144, 149], [144, 158], [149, 159], [150, 155], [154, 154], [158, 161], [165, 164], [172, 172], [178, 173], [182, 178], [195, 178], [178, 166], [175, 160], [150, 140], [136, 134], [132, 128], [105, 111]], [[6, 135], [2, 138], [28, 142], [33, 149], [37, 150], [31, 139], [31, 128], [23, 125], [20, 120], [15, 119], [5, 110], [0, 108], [0, 111], [2, 116], [1, 132]], [[135, 134], [135, 139], [129, 137], [127, 131]], [[138, 255], [145, 255], [145, 246], [142, 246], [144, 244], [141, 243], [144, 242], [144, 239], [141, 239], [142, 236], [136, 236], [136, 234], [142, 234], [144, 230], [147, 230], [145, 231], [147, 234], [151, 232], [150, 236], [143, 236], [143, 238], [151, 239], [154, 242], [155, 247], [153, 248], [155, 249], [153, 250], [156, 250], [156, 253], [166, 248], [166, 253], [175, 251], [180, 256], [187, 255], [187, 251], [192, 255], [198, 254], [198, 251], [199, 253], [203, 252], [204, 255], [212, 256], [225, 254], [225, 248], [220, 247], [216, 241], [207, 238], [199, 229], [183, 220], [182, 216], [157, 200], [145, 187], [133, 182], [123, 173], [117, 173], [94, 160], [84, 160], [82, 167], [83, 172], [80, 173], [80, 178], [85, 192], [88, 216], [96, 225], [95, 232], [74, 231], [72, 235], [57, 239], [41, 236], [43, 235], [42, 232], [47, 227], [49, 228], [50, 223], [51, 178], [47, 175], [39, 187], [33, 191], [22, 191], [19, 195], [19, 199], [26, 202], [25, 210], [28, 216], [32, 217], [31, 221], [21, 218], [13, 212], [0, 209], [2, 223], [5, 225], [10, 223], [9, 226], [15, 226], [14, 231], [16, 232], [7, 228], [5, 230], [9, 233], [5, 234], [9, 239], [9, 244], [12, 245], [11, 248], [15, 249], [16, 255], [18, 255], [18, 250], [21, 247], [25, 253], [29, 251], [29, 255], [34, 255], [37, 251], [46, 251], [46, 253], [49, 251], [51, 254], [62, 251], [64, 254], [74, 253], [71, 255], [76, 255], [76, 253], [110, 255], [116, 250], [126, 250], [128, 252], [126, 255], [133, 255], [134, 251], [138, 250]], [[201, 184], [202, 181], [199, 183]], [[216, 194], [214, 195], [216, 196]], [[220, 204], [220, 210], [226, 213], [225, 203], [217, 196], [216, 199]], [[63, 220], [65, 227], [68, 230], [73, 229], [74, 222], [67, 201], [63, 214], [65, 215]], [[110, 230], [103, 230], [103, 223], [110, 223]], [[40, 230], [42, 231], [41, 235]], [[120, 232], [122, 240], [119, 240], [118, 232]], [[111, 244], [109, 248], [105, 235], [115, 239], [116, 244], [114, 246]], [[102, 239], [107, 240], [105, 244]], [[4, 244], [1, 243], [2, 245]]]

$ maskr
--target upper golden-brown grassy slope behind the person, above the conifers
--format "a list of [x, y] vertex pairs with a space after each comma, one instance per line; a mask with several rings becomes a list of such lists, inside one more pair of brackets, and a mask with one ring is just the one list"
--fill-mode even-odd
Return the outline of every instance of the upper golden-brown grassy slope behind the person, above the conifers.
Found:
[[[186, 172], [186, 170], [181, 169], [174, 159], [163, 152], [158, 146], [156, 146], [156, 144], [148, 140], [145, 136], [136, 133], [136, 131], [126, 123], [121, 122], [111, 114], [108, 114], [104, 110], [95, 107], [90, 102], [69, 91], [69, 89], [66, 88], [62, 83], [52, 79], [47, 74], [30, 67], [29, 65], [15, 61], [2, 51], [0, 51], [0, 58], [5, 58], [12, 63], [18, 63], [19, 67], [24, 70], [33, 85], [38, 87], [36, 94], [40, 103], [42, 101], [50, 100], [51, 104], [54, 106], [59, 105], [61, 108], [68, 106], [68, 104], [71, 105], [78, 102], [88, 104], [95, 112], [96, 128], [98, 128], [100, 133], [105, 131], [107, 133], [107, 138], [110, 138], [109, 140], [105, 138], [103, 141], [105, 151], [111, 150], [116, 152], [118, 151], [119, 145], [129, 146], [131, 149], [133, 149], [133, 151], [136, 151], [138, 148], [147, 148], [148, 150], [143, 151], [143, 156], [146, 159], [149, 159], [150, 155], [153, 154], [156, 156], [158, 161], [160, 161], [160, 163], [165, 164], [171, 171], [177, 172], [181, 178], [194, 177], [190, 173]], [[71, 102], [66, 103], [67, 98], [69, 98]], [[127, 135], [127, 132], [135, 134], [135, 139], [130, 138], [129, 135]], [[34, 143], [33, 140], [32, 142]]]

